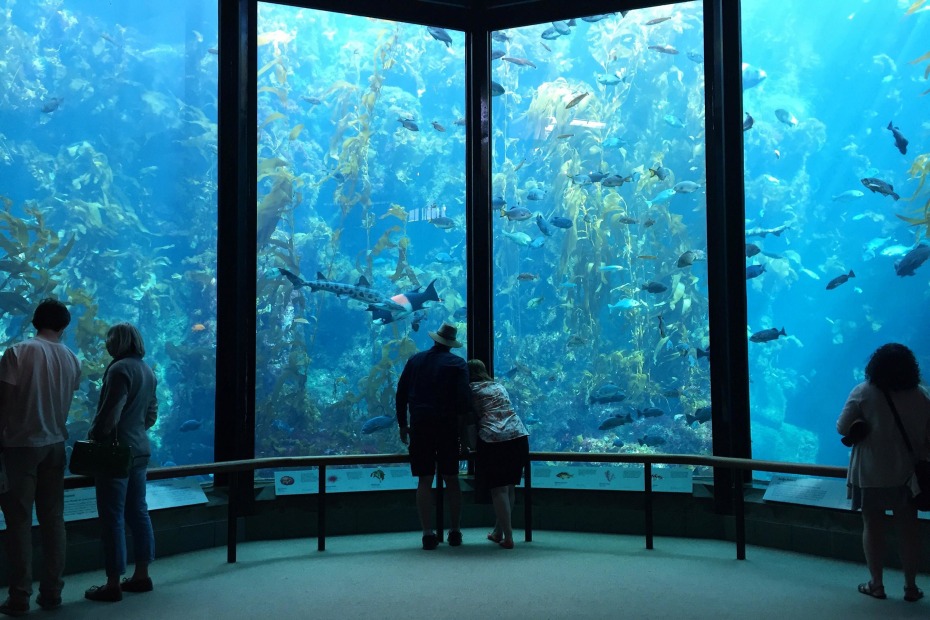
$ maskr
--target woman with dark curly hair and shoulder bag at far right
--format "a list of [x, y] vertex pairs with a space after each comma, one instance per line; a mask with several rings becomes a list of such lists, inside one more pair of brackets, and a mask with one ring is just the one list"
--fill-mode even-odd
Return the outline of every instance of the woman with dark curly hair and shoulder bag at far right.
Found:
[[[853, 445], [847, 475], [853, 510], [862, 510], [862, 548], [870, 574], [868, 582], [859, 584], [859, 591], [887, 598], [882, 560], [885, 511], [891, 510], [904, 569], [904, 600], [914, 602], [924, 593], [916, 583], [920, 541], [917, 509], [910, 500], [915, 460], [930, 454], [930, 395], [920, 386], [920, 368], [914, 353], [902, 344], [879, 347], [865, 367], [865, 378], [850, 392], [836, 422], [836, 430], [844, 438], [856, 434], [861, 437]], [[857, 429], [865, 431], [857, 433]]]

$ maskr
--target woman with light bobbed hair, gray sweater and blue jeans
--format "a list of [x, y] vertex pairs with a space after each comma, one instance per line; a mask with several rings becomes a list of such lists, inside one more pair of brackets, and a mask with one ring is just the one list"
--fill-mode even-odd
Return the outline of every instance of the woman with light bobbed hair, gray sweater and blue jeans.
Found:
[[[103, 375], [97, 415], [89, 437], [110, 441], [113, 433], [132, 450], [133, 465], [128, 478], [98, 476], [97, 513], [105, 557], [107, 583], [84, 593], [92, 601], [115, 602], [123, 592], [150, 592], [149, 563], [155, 559], [155, 536], [145, 502], [145, 472], [151, 449], [148, 429], [158, 417], [155, 373], [142, 361], [145, 344], [142, 334], [129, 323], [114, 325], [107, 332], [107, 352], [113, 361]], [[126, 524], [132, 530], [135, 572], [126, 572]]]

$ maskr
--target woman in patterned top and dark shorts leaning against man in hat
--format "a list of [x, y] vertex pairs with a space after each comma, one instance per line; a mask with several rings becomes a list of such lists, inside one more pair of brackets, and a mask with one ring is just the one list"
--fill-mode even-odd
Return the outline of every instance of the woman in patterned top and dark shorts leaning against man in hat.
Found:
[[479, 488], [490, 489], [496, 522], [488, 540], [513, 549], [514, 487], [529, 456], [529, 433], [514, 413], [510, 395], [488, 374], [481, 360], [469, 360], [472, 403], [478, 423], [476, 474]]

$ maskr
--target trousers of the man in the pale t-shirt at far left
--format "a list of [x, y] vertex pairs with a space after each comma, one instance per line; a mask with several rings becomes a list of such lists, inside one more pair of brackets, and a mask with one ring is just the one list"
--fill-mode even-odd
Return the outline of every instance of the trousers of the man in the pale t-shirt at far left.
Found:
[[42, 537], [39, 592], [58, 597], [65, 583], [61, 578], [65, 568], [65, 444], [3, 451], [10, 490], [0, 494], [0, 508], [6, 519], [10, 599], [28, 601], [32, 594], [33, 504]]

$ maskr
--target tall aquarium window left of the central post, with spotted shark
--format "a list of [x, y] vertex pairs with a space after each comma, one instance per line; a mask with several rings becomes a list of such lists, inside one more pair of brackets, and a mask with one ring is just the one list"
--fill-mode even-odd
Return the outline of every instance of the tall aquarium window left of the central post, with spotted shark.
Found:
[[256, 456], [400, 451], [404, 363], [464, 338], [463, 38], [259, 5]]

